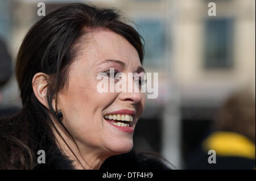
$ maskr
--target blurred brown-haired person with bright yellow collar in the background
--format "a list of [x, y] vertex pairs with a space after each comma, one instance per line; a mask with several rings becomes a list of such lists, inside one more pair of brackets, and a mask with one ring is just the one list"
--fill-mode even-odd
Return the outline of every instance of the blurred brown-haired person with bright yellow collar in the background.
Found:
[[[250, 91], [226, 100], [213, 130], [189, 156], [186, 169], [255, 169], [255, 96]], [[216, 151], [216, 163], [208, 162], [209, 150]]]

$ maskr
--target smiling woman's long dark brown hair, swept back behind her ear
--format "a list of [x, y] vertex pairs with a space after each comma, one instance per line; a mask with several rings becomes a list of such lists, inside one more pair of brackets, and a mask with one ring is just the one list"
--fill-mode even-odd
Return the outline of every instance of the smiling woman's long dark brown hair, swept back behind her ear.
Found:
[[[0, 120], [0, 169], [33, 169], [36, 151], [46, 149], [47, 141], [53, 139], [49, 113], [61, 121], [51, 103], [67, 85], [68, 67], [79, 51], [77, 43], [86, 33], [97, 28], [118, 33], [133, 45], [142, 62], [143, 39], [121, 18], [113, 9], [77, 3], [60, 7], [30, 29], [15, 67], [23, 106], [15, 116]], [[49, 75], [49, 110], [32, 90], [32, 78], [38, 72]]]

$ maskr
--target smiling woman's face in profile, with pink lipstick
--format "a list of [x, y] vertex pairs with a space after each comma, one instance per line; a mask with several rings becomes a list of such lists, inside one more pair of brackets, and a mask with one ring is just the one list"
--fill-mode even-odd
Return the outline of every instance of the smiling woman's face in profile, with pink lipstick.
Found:
[[[126, 77], [128, 73], [141, 73], [137, 50], [111, 31], [94, 31], [79, 46], [81, 50], [69, 69], [68, 88], [59, 94], [63, 123], [82, 151], [127, 153], [133, 148], [133, 131], [144, 110], [145, 93], [98, 92], [97, 83], [101, 80], [97, 75], [108, 73], [110, 68]], [[111, 114], [115, 111], [119, 112]], [[106, 115], [112, 115], [112, 121], [105, 119]], [[126, 125], [117, 123], [122, 115], [128, 115], [130, 121]]]

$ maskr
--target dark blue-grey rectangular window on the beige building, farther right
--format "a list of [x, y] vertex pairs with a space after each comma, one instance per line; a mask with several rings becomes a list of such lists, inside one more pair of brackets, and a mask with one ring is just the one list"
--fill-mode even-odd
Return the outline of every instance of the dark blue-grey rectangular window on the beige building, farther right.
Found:
[[233, 19], [206, 20], [204, 66], [207, 69], [233, 66]]

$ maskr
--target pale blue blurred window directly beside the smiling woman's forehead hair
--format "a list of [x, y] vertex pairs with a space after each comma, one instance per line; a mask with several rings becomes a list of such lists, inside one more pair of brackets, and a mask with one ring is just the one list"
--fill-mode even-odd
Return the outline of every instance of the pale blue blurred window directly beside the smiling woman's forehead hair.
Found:
[[161, 20], [137, 20], [138, 32], [145, 40], [144, 66], [161, 66], [164, 61], [165, 33]]

